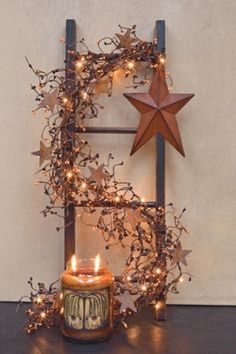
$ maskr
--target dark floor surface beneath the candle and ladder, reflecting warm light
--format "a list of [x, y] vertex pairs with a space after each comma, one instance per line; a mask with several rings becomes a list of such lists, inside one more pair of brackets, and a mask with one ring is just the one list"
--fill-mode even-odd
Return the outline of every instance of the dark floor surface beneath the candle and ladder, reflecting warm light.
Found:
[[15, 309], [0, 303], [1, 354], [236, 354], [236, 307], [168, 306], [166, 322], [145, 309], [97, 344], [67, 342], [57, 328], [18, 331], [25, 316]]

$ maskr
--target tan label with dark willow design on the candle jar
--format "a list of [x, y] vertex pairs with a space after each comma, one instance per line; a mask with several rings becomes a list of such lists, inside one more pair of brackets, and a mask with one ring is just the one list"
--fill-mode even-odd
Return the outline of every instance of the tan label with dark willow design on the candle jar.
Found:
[[93, 330], [108, 324], [109, 288], [94, 293], [64, 289], [63, 297], [66, 326], [80, 330]]

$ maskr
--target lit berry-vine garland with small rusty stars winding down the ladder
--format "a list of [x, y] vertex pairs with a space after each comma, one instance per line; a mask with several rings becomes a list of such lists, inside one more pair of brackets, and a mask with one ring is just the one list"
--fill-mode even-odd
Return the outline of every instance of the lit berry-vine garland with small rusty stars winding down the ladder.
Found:
[[[124, 80], [132, 79], [133, 88], [145, 86], [153, 70], [165, 70], [166, 57], [157, 51], [156, 40], [138, 38], [135, 26], [120, 26], [120, 33], [99, 40], [99, 53], [90, 51], [84, 39], [79, 43], [84, 50], [67, 53], [66, 60], [74, 63], [70, 72], [64, 68], [37, 70], [27, 59], [37, 78], [37, 84], [31, 86], [37, 103], [33, 114], [43, 111], [46, 121], [40, 149], [33, 152], [40, 163], [36, 183], [43, 186], [48, 198], [42, 211], [45, 217], [52, 214], [64, 219], [64, 211], [71, 203], [82, 208], [82, 222], [84, 215], [96, 211], [97, 222], [92, 226], [103, 236], [106, 249], [117, 245], [129, 248], [124, 269], [115, 277], [114, 314], [120, 322], [134, 312], [130, 308], [119, 311], [122, 294], [128, 292], [136, 310], [147, 304], [158, 308], [158, 301], [168, 292], [178, 292], [178, 284], [186, 275], [191, 279], [180, 265], [186, 265], [185, 256], [190, 252], [183, 250], [180, 243], [187, 230], [180, 220], [182, 213], [177, 215], [172, 204], [165, 210], [151, 208], [130, 182], [118, 181], [116, 171], [123, 163], [114, 164], [112, 154], [101, 163], [99, 154], [83, 139], [83, 132], [86, 122], [101, 114], [99, 96], [112, 95], [117, 70], [123, 72]], [[68, 80], [73, 75], [76, 80], [70, 85]], [[172, 85], [170, 76], [166, 76]], [[167, 217], [170, 225], [166, 225]], [[63, 227], [58, 226], [57, 230]], [[32, 279], [29, 283], [30, 333], [41, 325], [50, 327], [57, 322], [59, 291], [54, 284], [46, 289], [39, 283], [36, 289]]]

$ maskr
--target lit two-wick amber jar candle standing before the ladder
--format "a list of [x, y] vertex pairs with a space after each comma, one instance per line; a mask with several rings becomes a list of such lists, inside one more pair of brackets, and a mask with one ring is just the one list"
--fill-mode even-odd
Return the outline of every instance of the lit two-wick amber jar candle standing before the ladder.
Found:
[[81, 259], [61, 276], [61, 331], [72, 340], [100, 341], [113, 329], [113, 275], [101, 265], [100, 258]]

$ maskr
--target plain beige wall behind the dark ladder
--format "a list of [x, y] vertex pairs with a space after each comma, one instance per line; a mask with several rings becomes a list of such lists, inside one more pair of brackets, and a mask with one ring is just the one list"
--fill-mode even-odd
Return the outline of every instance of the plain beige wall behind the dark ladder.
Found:
[[[34, 77], [24, 56], [38, 68], [63, 65], [65, 20], [75, 18], [78, 35], [95, 50], [96, 40], [117, 31], [117, 25], [137, 24], [138, 34], [153, 38], [154, 23], [165, 19], [168, 70], [173, 92], [196, 97], [178, 114], [187, 157], [167, 146], [167, 201], [187, 208], [190, 229], [183, 244], [192, 248], [188, 271], [191, 283], [169, 302], [236, 304], [236, 166], [235, 74], [236, 1], [234, 0], [1, 0], [0, 1], [0, 300], [27, 294], [27, 279], [49, 283], [63, 269], [63, 233], [57, 219], [44, 219], [40, 187], [34, 186], [42, 120], [32, 117]], [[138, 114], [121, 96], [117, 80], [114, 97], [104, 99], [106, 110], [98, 124], [134, 126]], [[111, 124], [111, 123], [110, 123]], [[121, 178], [128, 178], [140, 195], [154, 195], [154, 144], [150, 141], [129, 157], [132, 137], [88, 137], [95, 149], [125, 161]], [[92, 140], [91, 140], [92, 139]], [[104, 159], [106, 156], [104, 156]], [[100, 238], [78, 225], [77, 250], [105, 254]], [[88, 245], [88, 247], [87, 247]], [[105, 254], [106, 255], [106, 254]], [[106, 255], [118, 271], [120, 249]], [[115, 261], [114, 261], [115, 259]]]

